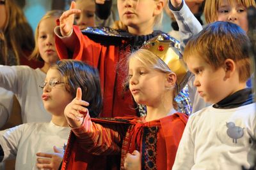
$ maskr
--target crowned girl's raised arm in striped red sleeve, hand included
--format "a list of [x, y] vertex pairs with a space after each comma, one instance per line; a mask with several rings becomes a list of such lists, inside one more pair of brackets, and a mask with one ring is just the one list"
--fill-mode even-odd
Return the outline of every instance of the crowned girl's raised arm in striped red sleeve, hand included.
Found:
[[81, 89], [77, 89], [76, 98], [66, 106], [65, 117], [77, 136], [81, 148], [95, 155], [120, 153], [122, 141], [118, 130], [102, 127], [92, 122], [87, 108], [82, 101]]

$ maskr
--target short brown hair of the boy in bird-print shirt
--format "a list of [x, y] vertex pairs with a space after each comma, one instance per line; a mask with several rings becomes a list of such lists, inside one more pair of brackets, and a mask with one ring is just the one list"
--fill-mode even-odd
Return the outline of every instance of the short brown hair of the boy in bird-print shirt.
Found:
[[231, 22], [213, 22], [189, 39], [183, 59], [188, 61], [191, 55], [201, 57], [214, 69], [223, 66], [226, 59], [236, 62], [239, 81], [250, 78], [250, 57], [248, 46], [250, 39], [246, 32]]

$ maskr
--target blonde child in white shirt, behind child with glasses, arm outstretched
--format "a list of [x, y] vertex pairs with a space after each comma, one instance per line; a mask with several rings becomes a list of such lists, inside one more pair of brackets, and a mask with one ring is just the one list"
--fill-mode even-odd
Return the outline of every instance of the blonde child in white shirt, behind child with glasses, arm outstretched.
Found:
[[28, 66], [0, 66], [0, 87], [12, 91], [21, 107], [23, 123], [49, 122], [51, 115], [45, 110], [38, 87], [45, 79], [51, 64], [58, 60], [55, 49], [54, 27], [56, 19], [63, 11], [47, 12], [38, 23], [35, 31], [36, 46], [31, 59], [44, 60], [42, 68], [32, 69]]

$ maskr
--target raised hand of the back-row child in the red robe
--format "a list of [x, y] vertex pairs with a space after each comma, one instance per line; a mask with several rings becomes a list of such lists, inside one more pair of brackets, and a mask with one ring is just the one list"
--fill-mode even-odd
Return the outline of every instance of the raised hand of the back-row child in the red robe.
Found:
[[81, 13], [81, 10], [76, 10], [76, 3], [71, 2], [69, 10], [63, 12], [60, 17], [60, 32], [62, 36], [68, 36], [72, 31], [74, 24], [74, 14]]

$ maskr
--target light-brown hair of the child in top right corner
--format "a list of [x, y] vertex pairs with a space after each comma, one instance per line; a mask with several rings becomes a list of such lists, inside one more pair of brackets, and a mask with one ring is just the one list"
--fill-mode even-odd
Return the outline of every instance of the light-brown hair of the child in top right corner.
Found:
[[[206, 0], [204, 6], [205, 21], [207, 24], [218, 20], [218, 10], [223, 0]], [[227, 0], [229, 4], [233, 1], [237, 1], [238, 4], [242, 4], [245, 8], [255, 6], [255, 0]]]

